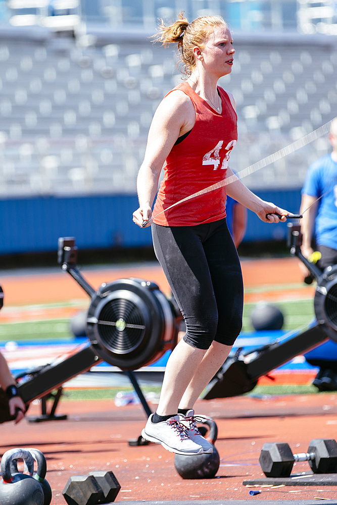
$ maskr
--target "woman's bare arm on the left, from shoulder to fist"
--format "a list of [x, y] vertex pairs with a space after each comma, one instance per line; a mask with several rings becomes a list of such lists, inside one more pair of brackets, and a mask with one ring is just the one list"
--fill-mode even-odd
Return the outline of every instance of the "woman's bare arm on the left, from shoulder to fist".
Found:
[[139, 208], [133, 213], [138, 226], [149, 221], [161, 169], [177, 138], [194, 126], [195, 109], [182, 91], [174, 91], [159, 104], [151, 123], [145, 158], [137, 176]]

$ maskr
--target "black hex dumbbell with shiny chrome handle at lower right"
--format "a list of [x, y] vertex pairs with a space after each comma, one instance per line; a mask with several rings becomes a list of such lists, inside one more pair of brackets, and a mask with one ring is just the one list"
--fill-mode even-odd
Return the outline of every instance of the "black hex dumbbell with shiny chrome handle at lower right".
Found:
[[314, 473], [337, 473], [337, 442], [314, 439], [308, 452], [294, 455], [287, 443], [263, 444], [259, 462], [267, 477], [289, 477], [296, 461], [308, 461]]

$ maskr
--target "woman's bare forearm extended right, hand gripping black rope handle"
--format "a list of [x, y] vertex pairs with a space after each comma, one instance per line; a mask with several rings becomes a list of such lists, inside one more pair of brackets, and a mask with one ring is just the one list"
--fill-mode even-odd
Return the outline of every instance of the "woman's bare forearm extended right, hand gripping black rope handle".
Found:
[[[245, 184], [243, 184], [228, 167], [226, 179], [231, 176], [234, 176], [235, 180], [226, 186], [226, 191], [229, 196], [238, 201], [239, 204], [247, 207], [247, 209], [255, 212], [261, 221], [264, 221], [265, 223], [286, 221], [285, 216], [288, 214], [288, 211], [281, 209], [280, 207], [277, 207], [277, 205], [269, 203], [268, 201], [264, 201], [259, 198], [259, 196], [252, 193], [252, 191], [250, 191], [250, 189], [248, 189], [248, 187], [246, 187]], [[270, 214], [270, 216], [266, 217], [267, 214]], [[282, 217], [279, 218], [276, 214], [280, 214]]]

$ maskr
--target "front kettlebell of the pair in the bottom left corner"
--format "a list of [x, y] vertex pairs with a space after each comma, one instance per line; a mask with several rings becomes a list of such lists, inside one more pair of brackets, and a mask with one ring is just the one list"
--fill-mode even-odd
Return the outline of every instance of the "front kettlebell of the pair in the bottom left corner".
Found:
[[44, 494], [42, 487], [31, 475], [11, 472], [11, 461], [22, 459], [28, 469], [34, 468], [34, 460], [26, 449], [10, 449], [5, 452], [1, 460], [0, 482], [1, 505], [43, 505]]

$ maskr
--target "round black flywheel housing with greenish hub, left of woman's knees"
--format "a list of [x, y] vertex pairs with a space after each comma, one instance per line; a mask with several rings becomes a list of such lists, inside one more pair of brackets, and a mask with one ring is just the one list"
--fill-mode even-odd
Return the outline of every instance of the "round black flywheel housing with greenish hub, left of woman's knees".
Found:
[[103, 283], [92, 297], [86, 332], [106, 362], [136, 370], [176, 344], [178, 315], [157, 284], [141, 279]]

